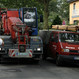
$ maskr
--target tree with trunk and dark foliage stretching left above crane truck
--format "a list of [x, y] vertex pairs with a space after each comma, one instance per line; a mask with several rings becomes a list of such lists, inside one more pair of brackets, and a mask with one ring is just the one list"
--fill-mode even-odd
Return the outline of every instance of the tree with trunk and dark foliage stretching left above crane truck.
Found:
[[47, 29], [50, 1], [56, 1], [56, 0], [1, 0], [1, 3], [4, 4], [6, 8], [20, 8], [20, 7], [26, 7], [26, 6], [37, 7], [38, 13], [39, 14], [43, 13], [44, 15], [43, 28]]

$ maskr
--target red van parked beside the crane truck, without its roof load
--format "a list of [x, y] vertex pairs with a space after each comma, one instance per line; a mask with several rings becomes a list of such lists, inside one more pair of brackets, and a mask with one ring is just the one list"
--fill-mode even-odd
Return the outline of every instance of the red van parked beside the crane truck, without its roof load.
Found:
[[40, 30], [39, 35], [43, 40], [44, 59], [47, 57], [52, 57], [56, 60], [57, 65], [62, 65], [62, 63], [65, 63], [65, 61], [79, 62], [78, 32], [62, 30]]

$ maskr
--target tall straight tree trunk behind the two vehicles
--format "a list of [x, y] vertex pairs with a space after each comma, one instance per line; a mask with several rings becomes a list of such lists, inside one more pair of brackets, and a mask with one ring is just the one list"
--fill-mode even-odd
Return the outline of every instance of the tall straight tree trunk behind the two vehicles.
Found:
[[48, 0], [44, 0], [44, 27], [43, 29], [48, 28]]

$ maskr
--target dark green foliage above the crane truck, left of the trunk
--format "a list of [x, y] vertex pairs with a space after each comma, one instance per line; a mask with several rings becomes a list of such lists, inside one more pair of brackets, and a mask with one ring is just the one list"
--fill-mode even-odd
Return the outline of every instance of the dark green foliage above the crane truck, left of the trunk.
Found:
[[21, 8], [21, 7], [37, 7], [38, 13], [43, 11], [42, 4], [39, 4], [37, 0], [0, 0], [1, 8]]

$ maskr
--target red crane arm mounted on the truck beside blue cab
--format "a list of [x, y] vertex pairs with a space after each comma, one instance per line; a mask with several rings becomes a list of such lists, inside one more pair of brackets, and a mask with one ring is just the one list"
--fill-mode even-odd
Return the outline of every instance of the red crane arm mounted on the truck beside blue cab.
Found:
[[[2, 14], [2, 22], [5, 34], [11, 34], [11, 38], [14, 43], [17, 42], [18, 39], [18, 48], [19, 45], [25, 45], [26, 49], [26, 35], [29, 39], [28, 27], [25, 26], [25, 32], [22, 34], [22, 27], [17, 25], [23, 25], [22, 21], [19, 19], [18, 11], [7, 11], [7, 13]], [[24, 41], [21, 41], [20, 36], [24, 36]]]

